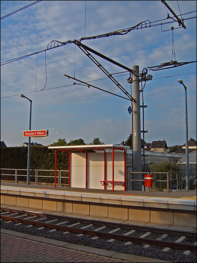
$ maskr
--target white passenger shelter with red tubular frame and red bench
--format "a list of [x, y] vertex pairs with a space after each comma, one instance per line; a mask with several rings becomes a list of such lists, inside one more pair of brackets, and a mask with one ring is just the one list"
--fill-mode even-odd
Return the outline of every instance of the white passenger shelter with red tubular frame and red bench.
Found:
[[[129, 146], [102, 144], [48, 148], [55, 149], [55, 188], [57, 152], [65, 151], [69, 153], [69, 187], [126, 191], [126, 150]], [[106, 153], [107, 149], [112, 152]]]

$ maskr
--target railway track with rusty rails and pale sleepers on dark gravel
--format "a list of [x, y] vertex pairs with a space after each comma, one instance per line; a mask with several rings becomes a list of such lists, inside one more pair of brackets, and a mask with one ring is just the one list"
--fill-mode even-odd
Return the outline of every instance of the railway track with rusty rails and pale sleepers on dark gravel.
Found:
[[14, 229], [18, 227], [20, 231], [27, 231], [33, 227], [34, 235], [46, 236], [47, 233], [53, 233], [53, 236], [57, 235], [62, 241], [67, 241], [66, 236], [73, 235], [72, 240], [76, 240], [77, 244], [91, 243], [91, 246], [94, 246], [95, 243], [96, 246], [101, 242], [117, 243], [123, 247], [137, 245], [165, 254], [168, 251], [172, 253], [172, 249], [183, 255], [196, 251], [196, 232], [117, 224], [10, 208], [1, 208], [1, 222], [2, 228], [12, 224]]

